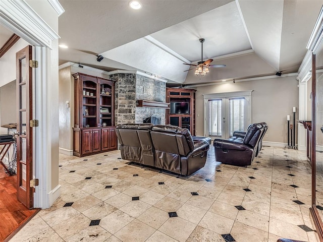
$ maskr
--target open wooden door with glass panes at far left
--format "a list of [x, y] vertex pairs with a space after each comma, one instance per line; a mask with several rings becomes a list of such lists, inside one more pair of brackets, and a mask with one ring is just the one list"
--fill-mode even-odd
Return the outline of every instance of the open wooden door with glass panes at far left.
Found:
[[27, 208], [33, 207], [32, 179], [32, 46], [16, 53], [17, 70], [17, 198]]

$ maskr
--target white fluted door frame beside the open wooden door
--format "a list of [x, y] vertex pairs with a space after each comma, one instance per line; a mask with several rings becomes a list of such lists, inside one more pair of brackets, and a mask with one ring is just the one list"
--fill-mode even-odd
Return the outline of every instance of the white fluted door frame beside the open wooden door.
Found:
[[[58, 13], [58, 18], [64, 9], [57, 0], [48, 2]], [[50, 85], [53, 81], [58, 82], [52, 80], [52, 72], [58, 73], [58, 66], [52, 67], [51, 56], [58, 57], [59, 35], [23, 0], [0, 0], [0, 24], [35, 46], [34, 57], [38, 68], [33, 69], [33, 119], [39, 120], [39, 127], [33, 128], [33, 178], [39, 179], [39, 186], [35, 187], [34, 207], [49, 208], [60, 196], [59, 185], [51, 189], [51, 153], [55, 152], [51, 145], [52, 127], [58, 128], [58, 124], [51, 124], [50, 108]]]

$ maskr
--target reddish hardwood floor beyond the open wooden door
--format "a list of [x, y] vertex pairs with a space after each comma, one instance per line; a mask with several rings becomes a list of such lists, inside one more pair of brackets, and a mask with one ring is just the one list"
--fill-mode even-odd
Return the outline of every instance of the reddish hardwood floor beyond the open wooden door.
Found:
[[29, 210], [17, 200], [17, 175], [9, 176], [0, 167], [0, 241], [4, 241], [39, 209]]

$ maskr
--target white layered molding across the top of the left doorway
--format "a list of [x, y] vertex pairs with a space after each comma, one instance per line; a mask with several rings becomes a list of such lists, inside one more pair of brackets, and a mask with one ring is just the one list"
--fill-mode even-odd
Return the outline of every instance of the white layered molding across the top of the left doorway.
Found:
[[25, 1], [0, 1], [0, 23], [31, 45], [51, 48], [60, 38]]

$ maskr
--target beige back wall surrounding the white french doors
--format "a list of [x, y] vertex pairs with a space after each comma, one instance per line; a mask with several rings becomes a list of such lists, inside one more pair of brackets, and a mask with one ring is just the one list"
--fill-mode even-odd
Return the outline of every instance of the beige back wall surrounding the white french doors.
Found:
[[297, 85], [296, 76], [292, 76], [197, 87], [197, 135], [204, 135], [203, 94], [253, 90], [251, 122], [266, 122], [269, 127], [263, 141], [287, 143], [287, 115], [291, 115], [292, 120], [292, 107], [298, 106]]

